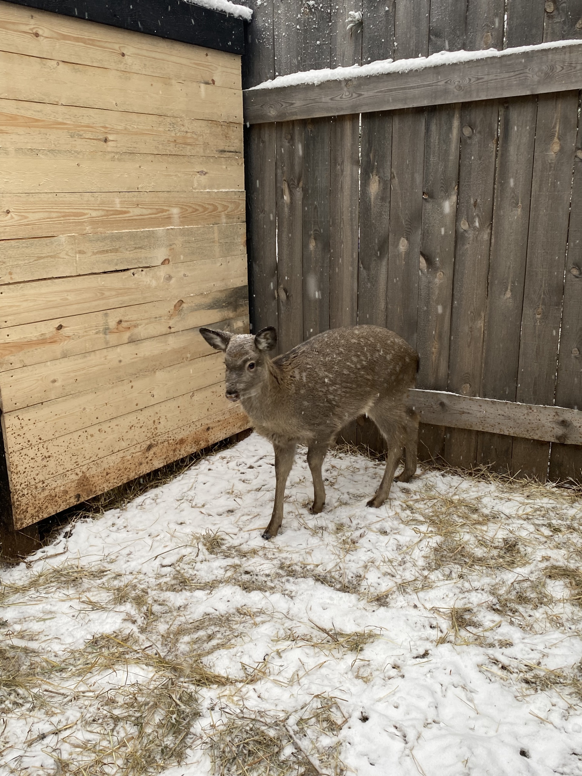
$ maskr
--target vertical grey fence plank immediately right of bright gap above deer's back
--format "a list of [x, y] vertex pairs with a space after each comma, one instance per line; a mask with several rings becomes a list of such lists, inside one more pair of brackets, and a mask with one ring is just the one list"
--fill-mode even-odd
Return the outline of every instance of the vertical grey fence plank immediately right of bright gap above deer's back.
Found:
[[[363, 12], [362, 62], [394, 54], [394, 0], [369, 0]], [[392, 114], [362, 113], [358, 323], [386, 326]], [[359, 444], [383, 449], [383, 439], [367, 419], [359, 421]]]

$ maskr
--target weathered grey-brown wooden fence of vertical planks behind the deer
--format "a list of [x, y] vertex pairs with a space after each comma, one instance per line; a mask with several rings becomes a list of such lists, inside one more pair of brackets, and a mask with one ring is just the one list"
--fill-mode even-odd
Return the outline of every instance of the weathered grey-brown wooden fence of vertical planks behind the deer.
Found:
[[[249, 5], [247, 89], [312, 68], [582, 39], [582, 0]], [[352, 11], [362, 24], [348, 29]], [[511, 88], [495, 91], [491, 73], [468, 76], [459, 102], [442, 99], [434, 82], [416, 88], [414, 74], [400, 103], [390, 102], [396, 81], [391, 96], [376, 89], [376, 101], [374, 90], [362, 97], [346, 83], [340, 95], [333, 86], [245, 95], [251, 328], [277, 326], [281, 352], [328, 327], [401, 334], [421, 355], [424, 458], [540, 480], [582, 475], [582, 125], [572, 48], [573, 64], [553, 50], [518, 63], [514, 78], [503, 78], [511, 57], [500, 57], [495, 78]], [[415, 90], [417, 102], [402, 102]], [[329, 115], [340, 103], [342, 115]], [[428, 391], [456, 397], [435, 393], [431, 403]], [[471, 397], [498, 401], [483, 411]], [[365, 424], [348, 433], [377, 444]]]

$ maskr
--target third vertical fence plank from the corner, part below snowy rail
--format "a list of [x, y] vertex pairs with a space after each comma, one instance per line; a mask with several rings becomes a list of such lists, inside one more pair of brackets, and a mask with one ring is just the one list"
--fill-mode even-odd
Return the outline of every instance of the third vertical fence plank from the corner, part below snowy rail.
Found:
[[303, 127], [303, 339], [329, 328], [330, 133], [328, 119]]

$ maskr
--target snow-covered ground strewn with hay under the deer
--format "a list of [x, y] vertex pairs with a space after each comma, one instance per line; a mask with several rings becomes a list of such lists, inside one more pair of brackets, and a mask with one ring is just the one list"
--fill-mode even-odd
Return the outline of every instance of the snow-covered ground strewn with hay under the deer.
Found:
[[251, 435], [0, 588], [0, 774], [582, 774], [582, 501]]

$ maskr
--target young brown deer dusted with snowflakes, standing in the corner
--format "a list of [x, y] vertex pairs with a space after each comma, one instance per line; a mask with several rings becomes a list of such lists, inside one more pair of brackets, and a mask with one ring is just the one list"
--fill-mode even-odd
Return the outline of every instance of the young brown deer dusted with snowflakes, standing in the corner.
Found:
[[386, 441], [386, 469], [367, 506], [379, 508], [392, 487], [404, 449], [404, 470], [397, 481], [416, 473], [418, 414], [408, 397], [418, 369], [418, 354], [404, 339], [379, 326], [324, 331], [283, 355], [269, 356], [277, 332], [268, 326], [252, 334], [231, 334], [201, 327], [200, 334], [224, 352], [226, 397], [240, 401], [255, 431], [275, 451], [275, 502], [262, 534], [272, 539], [283, 519], [283, 499], [297, 445], [307, 446], [314, 482], [313, 514], [323, 511], [321, 467], [341, 428], [365, 415]]

